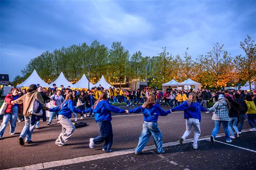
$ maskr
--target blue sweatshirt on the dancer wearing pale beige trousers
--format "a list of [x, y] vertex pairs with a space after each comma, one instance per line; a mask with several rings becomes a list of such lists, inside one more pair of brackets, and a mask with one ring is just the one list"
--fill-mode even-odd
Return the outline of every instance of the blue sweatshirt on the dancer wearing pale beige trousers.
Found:
[[61, 106], [58, 106], [56, 108], [53, 109], [49, 109], [49, 112], [58, 112], [59, 114], [62, 114], [64, 116], [66, 116], [67, 118], [71, 118], [72, 117], [72, 113], [82, 113], [81, 110], [77, 110], [74, 107], [74, 103], [72, 100], [66, 100], [66, 102], [64, 104], [62, 104], [62, 109]]

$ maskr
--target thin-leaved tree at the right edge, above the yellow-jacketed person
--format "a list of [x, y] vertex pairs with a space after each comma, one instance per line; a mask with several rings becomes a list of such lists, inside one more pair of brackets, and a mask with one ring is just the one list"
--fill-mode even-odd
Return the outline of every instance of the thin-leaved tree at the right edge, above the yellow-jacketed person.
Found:
[[239, 71], [242, 80], [249, 82], [250, 90], [253, 79], [256, 79], [256, 44], [249, 35], [244, 42], [240, 42], [240, 48], [245, 52], [245, 56], [238, 55], [234, 59], [234, 64]]

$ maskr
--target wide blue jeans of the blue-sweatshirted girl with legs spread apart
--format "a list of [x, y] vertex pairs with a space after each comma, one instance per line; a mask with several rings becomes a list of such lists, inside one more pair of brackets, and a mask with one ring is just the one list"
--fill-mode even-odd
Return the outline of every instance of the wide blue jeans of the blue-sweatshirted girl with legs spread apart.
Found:
[[140, 153], [143, 150], [143, 148], [147, 145], [147, 141], [151, 137], [151, 134], [154, 137], [157, 153], [162, 153], [164, 151], [163, 137], [161, 131], [158, 128], [157, 122], [144, 121], [142, 132], [139, 137], [138, 146], [136, 147], [135, 152]]

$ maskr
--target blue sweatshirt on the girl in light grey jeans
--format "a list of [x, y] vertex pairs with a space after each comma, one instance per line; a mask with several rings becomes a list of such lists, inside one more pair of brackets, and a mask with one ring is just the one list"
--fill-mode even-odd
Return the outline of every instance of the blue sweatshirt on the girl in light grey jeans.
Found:
[[183, 102], [179, 106], [172, 108], [171, 111], [184, 110], [184, 118], [197, 118], [201, 122], [201, 111], [205, 112], [206, 109], [203, 108], [198, 102], [191, 102], [190, 106], [188, 101]]

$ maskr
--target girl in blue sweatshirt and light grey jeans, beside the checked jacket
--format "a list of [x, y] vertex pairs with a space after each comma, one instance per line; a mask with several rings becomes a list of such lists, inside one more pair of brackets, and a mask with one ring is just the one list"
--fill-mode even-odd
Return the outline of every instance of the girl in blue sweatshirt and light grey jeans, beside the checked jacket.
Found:
[[174, 112], [176, 110], [184, 110], [184, 118], [186, 119], [186, 131], [184, 132], [183, 136], [180, 138], [180, 144], [188, 137], [191, 133], [192, 126], [194, 127], [194, 142], [193, 142], [193, 149], [197, 149], [197, 141], [200, 136], [200, 124], [201, 122], [201, 111], [205, 112], [206, 109], [201, 106], [196, 101], [196, 95], [194, 93], [190, 93], [189, 99], [172, 108], [171, 111]]

